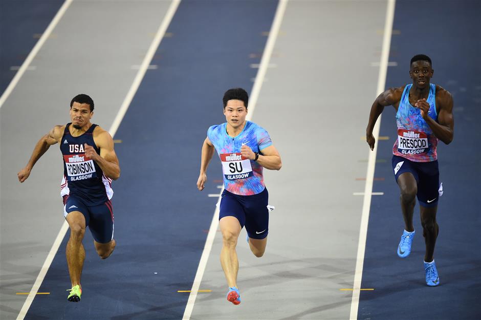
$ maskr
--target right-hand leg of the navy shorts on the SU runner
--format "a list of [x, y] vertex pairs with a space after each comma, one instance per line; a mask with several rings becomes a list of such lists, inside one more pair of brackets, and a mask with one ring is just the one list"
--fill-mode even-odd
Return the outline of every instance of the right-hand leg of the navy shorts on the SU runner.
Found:
[[246, 212], [246, 231], [249, 238], [265, 239], [269, 233], [269, 193], [265, 188], [261, 193], [246, 196], [243, 201]]

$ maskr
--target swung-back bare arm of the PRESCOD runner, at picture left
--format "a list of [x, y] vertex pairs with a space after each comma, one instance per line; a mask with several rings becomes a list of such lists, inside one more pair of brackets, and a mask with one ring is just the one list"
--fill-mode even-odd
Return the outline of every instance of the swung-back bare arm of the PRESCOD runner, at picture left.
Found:
[[366, 141], [369, 144], [371, 150], [374, 150], [374, 144], [376, 139], [373, 136], [374, 125], [378, 121], [379, 116], [387, 105], [393, 105], [397, 107], [397, 103], [401, 100], [404, 87], [401, 88], [389, 88], [388, 90], [381, 93], [376, 100], [374, 100], [373, 106], [371, 106], [371, 111], [369, 113], [369, 122], [366, 128]]

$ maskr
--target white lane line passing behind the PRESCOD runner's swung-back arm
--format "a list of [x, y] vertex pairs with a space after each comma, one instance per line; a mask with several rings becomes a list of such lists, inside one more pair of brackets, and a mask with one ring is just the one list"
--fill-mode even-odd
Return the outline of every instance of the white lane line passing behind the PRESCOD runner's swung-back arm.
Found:
[[[387, 61], [389, 59], [389, 48], [391, 45], [392, 22], [394, 20], [394, 10], [396, 1], [389, 0], [386, 8], [386, 22], [384, 25], [384, 37], [382, 44], [382, 53], [379, 67], [378, 88], [376, 96], [380, 95], [386, 86]], [[381, 124], [381, 116], [379, 116], [374, 126], [373, 135], [378, 140], [379, 126]], [[378, 140], [379, 141], [379, 140]], [[364, 252], [366, 249], [367, 223], [369, 222], [369, 209], [371, 206], [371, 193], [373, 191], [374, 169], [376, 165], [376, 154], [378, 151], [378, 143], [375, 144], [374, 150], [369, 152], [367, 163], [366, 185], [364, 187], [364, 202], [362, 206], [361, 227], [359, 230], [359, 243], [357, 249], [356, 271], [354, 273], [353, 298], [351, 301], [351, 315], [349, 319], [356, 320], [359, 308], [359, 295], [361, 292], [362, 268], [364, 266]]]

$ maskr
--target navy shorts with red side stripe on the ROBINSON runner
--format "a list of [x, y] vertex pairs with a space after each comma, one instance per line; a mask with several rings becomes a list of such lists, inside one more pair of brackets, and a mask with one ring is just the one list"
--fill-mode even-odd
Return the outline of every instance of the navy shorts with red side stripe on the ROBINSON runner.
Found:
[[98, 243], [108, 243], [114, 239], [114, 208], [112, 202], [94, 206], [85, 205], [81, 198], [76, 196], [63, 196], [63, 216], [72, 211], [80, 211], [85, 217], [85, 227], [89, 226], [92, 237]]

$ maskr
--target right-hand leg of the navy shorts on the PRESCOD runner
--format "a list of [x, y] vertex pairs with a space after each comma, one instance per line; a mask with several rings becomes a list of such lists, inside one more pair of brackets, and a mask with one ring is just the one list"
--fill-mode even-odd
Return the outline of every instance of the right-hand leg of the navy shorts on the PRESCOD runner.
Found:
[[419, 205], [423, 207], [432, 208], [438, 206], [438, 161], [419, 163], [418, 201]]

